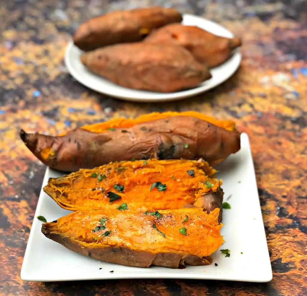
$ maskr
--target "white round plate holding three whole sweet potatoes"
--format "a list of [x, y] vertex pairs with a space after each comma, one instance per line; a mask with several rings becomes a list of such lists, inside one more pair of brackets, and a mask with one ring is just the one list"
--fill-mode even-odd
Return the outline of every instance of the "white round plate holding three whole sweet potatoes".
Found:
[[[223, 37], [233, 37], [233, 34], [221, 25], [192, 14], [184, 14], [182, 23], [184, 25], [198, 26], [211, 33]], [[212, 68], [210, 70], [212, 78], [204, 81], [199, 86], [180, 92], [160, 93], [124, 88], [91, 73], [80, 61], [80, 55], [82, 53], [83, 51], [76, 47], [72, 41], [68, 44], [65, 54], [65, 64], [70, 74], [77, 81], [79, 81], [81, 84], [84, 84], [88, 88], [95, 90], [96, 92], [135, 102], [173, 101], [184, 99], [193, 95], [198, 95], [216, 87], [217, 85], [227, 80], [237, 70], [241, 62], [241, 54], [239, 50], [235, 50], [229, 60], [227, 60], [219, 67]]]

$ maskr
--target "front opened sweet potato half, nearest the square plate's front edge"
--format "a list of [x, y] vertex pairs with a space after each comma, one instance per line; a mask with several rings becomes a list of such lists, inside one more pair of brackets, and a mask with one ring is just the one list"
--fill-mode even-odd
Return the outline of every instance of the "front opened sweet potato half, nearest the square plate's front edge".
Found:
[[43, 224], [41, 231], [69, 250], [110, 263], [178, 268], [212, 262], [210, 255], [223, 243], [219, 209], [158, 213], [78, 211]]

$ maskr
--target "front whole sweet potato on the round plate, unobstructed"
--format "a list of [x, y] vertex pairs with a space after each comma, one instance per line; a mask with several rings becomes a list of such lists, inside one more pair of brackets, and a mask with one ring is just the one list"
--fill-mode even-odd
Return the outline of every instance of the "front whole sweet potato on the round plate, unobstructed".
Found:
[[81, 55], [91, 72], [126, 88], [175, 92], [211, 78], [208, 68], [178, 45], [126, 43]]

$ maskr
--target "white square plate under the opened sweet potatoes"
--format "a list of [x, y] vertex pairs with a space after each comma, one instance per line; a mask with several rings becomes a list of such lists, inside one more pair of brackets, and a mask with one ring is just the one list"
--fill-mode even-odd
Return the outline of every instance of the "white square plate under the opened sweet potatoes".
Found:
[[[269, 282], [272, 279], [272, 269], [247, 134], [241, 135], [241, 150], [227, 158], [217, 169], [218, 177], [223, 179], [224, 201], [231, 205], [231, 209], [223, 211], [222, 235], [225, 243], [220, 249], [230, 249], [230, 257], [225, 257], [218, 250], [212, 255], [211, 265], [170, 269], [156, 266], [127, 267], [79, 255], [41, 233], [42, 222], [37, 216], [53, 221], [69, 213], [41, 190], [21, 268], [21, 279], [49, 282], [109, 278], [187, 278]], [[47, 168], [43, 186], [50, 177], [59, 177], [61, 174]]]

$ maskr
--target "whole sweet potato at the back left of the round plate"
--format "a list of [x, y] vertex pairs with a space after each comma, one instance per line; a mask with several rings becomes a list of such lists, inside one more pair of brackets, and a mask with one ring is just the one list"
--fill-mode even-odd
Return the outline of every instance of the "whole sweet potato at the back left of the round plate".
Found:
[[89, 51], [106, 45], [141, 41], [152, 29], [181, 21], [181, 13], [173, 8], [153, 6], [114, 11], [80, 25], [73, 41], [80, 49]]

